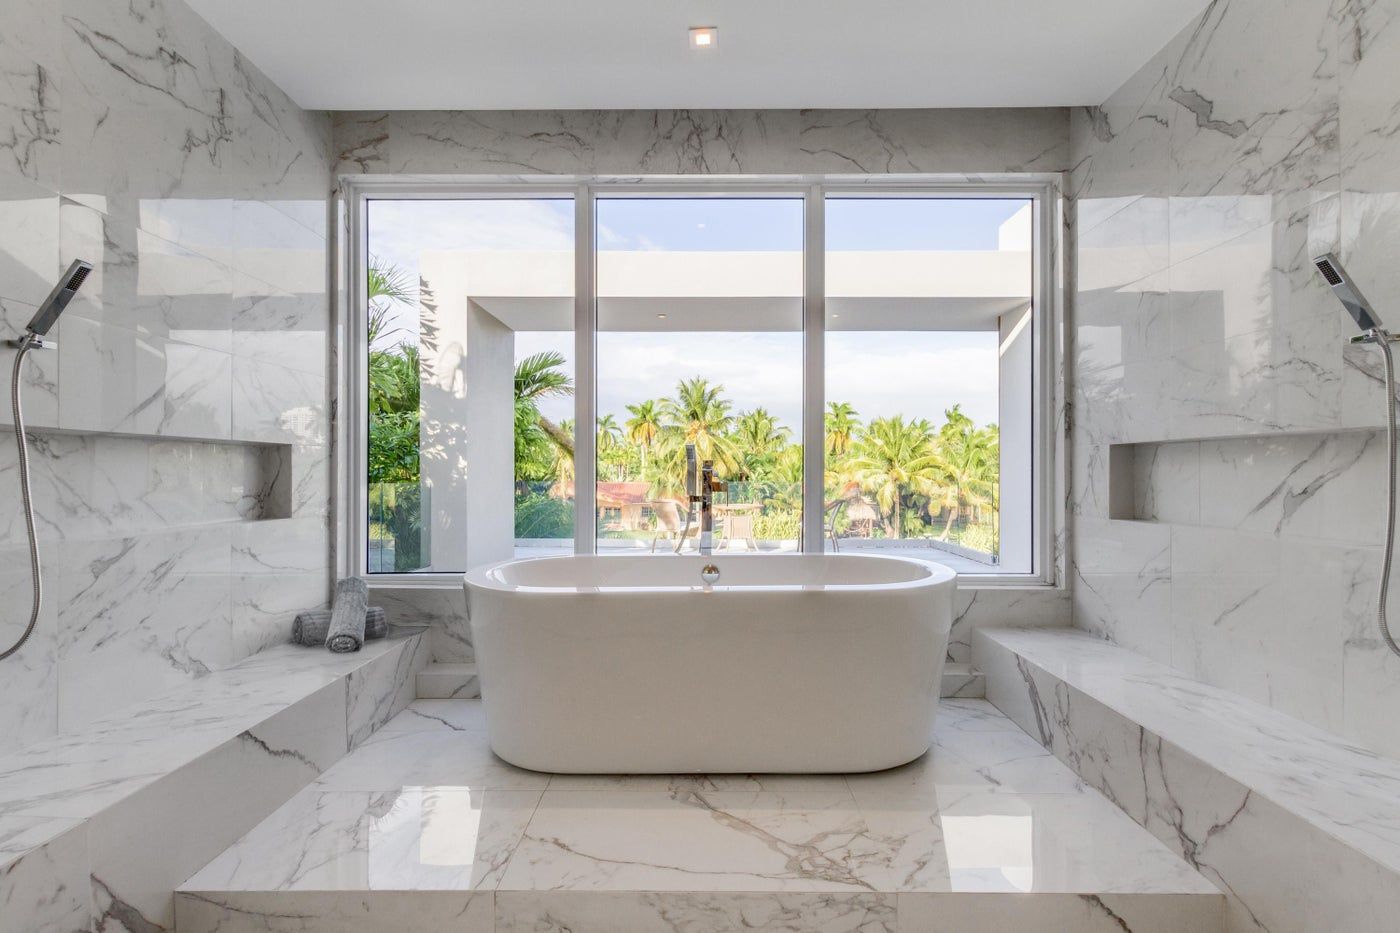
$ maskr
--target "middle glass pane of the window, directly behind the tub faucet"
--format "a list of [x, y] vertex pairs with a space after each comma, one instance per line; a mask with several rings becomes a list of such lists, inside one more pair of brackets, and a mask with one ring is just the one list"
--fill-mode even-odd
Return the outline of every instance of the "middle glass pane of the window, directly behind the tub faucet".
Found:
[[686, 445], [727, 483], [713, 545], [802, 525], [802, 200], [598, 200], [598, 551], [693, 551]]

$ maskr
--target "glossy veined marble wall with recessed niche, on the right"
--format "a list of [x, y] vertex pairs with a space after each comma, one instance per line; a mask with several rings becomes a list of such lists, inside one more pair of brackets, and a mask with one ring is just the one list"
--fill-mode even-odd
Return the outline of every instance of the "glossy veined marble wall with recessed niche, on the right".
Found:
[[1385, 392], [1309, 259], [1400, 325], [1397, 78], [1400, 0], [1217, 0], [1071, 130], [1075, 625], [1386, 754]]

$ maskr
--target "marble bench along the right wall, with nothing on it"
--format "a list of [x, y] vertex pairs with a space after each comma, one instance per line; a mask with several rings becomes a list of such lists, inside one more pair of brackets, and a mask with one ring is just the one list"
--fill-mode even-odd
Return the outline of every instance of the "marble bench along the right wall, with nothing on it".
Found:
[[1075, 629], [984, 629], [987, 699], [1229, 895], [1232, 929], [1393, 930], [1400, 761]]

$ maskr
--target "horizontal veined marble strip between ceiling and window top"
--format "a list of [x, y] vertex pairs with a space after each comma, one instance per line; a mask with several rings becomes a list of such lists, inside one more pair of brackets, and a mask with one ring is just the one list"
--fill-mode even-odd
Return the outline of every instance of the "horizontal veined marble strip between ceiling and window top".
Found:
[[358, 112], [339, 172], [1060, 171], [1064, 111]]

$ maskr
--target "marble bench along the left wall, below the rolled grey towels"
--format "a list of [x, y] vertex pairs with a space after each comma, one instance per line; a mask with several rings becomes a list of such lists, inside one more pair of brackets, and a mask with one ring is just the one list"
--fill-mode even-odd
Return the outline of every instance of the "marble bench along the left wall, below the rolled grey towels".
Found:
[[174, 888], [413, 699], [421, 633], [291, 644], [0, 758], [0, 932], [168, 930]]

